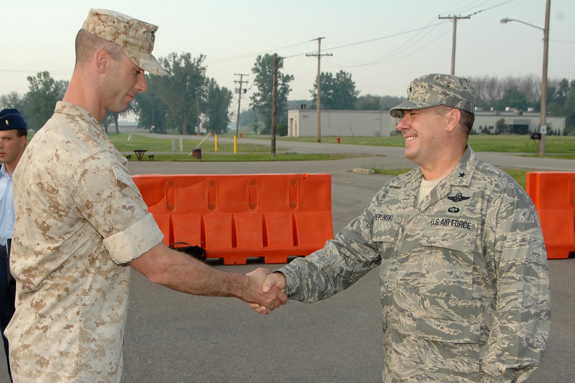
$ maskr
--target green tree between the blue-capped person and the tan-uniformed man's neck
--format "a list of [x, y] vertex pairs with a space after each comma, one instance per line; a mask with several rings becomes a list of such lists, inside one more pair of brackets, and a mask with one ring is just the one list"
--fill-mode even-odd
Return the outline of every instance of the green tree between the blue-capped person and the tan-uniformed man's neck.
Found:
[[61, 101], [66, 93], [68, 81], [55, 81], [49, 72], [39, 72], [36, 76], [28, 76], [28, 93], [30, 127], [39, 129], [54, 113], [56, 102]]

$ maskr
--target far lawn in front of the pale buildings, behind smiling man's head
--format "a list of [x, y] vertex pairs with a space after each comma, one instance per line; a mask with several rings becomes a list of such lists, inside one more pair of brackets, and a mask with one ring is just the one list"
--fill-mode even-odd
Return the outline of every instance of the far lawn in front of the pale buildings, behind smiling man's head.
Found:
[[[259, 138], [258, 136], [248, 136]], [[264, 137], [262, 137], [263, 139]], [[269, 139], [269, 138], [267, 138]], [[316, 142], [316, 137], [278, 137], [278, 141]], [[548, 153], [575, 154], [575, 136], [547, 136], [545, 145]], [[321, 137], [321, 142], [336, 144], [337, 137]], [[342, 144], [375, 145], [404, 147], [403, 136], [391, 137], [341, 137]], [[536, 153], [539, 151], [537, 143], [529, 136], [511, 135], [473, 135], [469, 136], [469, 144], [477, 152], [516, 152]]]

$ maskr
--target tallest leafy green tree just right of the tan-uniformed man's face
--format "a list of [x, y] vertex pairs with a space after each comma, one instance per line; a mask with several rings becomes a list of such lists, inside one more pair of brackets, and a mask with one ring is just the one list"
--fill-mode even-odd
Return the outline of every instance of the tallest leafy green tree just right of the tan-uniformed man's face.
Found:
[[204, 97], [207, 82], [204, 59], [204, 55], [192, 58], [191, 53], [173, 52], [158, 60], [168, 75], [158, 76], [156, 97], [167, 106], [168, 124], [178, 125], [182, 134], [194, 133], [197, 125], [196, 99]]

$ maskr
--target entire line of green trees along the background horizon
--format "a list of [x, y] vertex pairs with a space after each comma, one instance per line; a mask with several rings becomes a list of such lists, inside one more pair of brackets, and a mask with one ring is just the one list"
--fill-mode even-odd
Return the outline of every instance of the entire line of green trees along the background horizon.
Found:
[[[230, 111], [232, 92], [221, 87], [213, 78], [206, 76], [205, 56], [193, 58], [191, 53], [170, 53], [160, 57], [159, 62], [167, 76], [146, 74], [148, 90], [138, 93], [129, 108], [120, 114], [108, 113], [102, 126], [114, 124], [118, 132], [118, 117], [133, 113], [141, 128], [155, 133], [178, 132], [195, 134], [203, 127], [208, 132], [225, 133], [232, 119]], [[283, 59], [278, 59], [278, 123], [287, 122], [287, 110], [304, 104], [315, 109], [317, 103], [317, 80], [309, 90], [311, 99], [287, 99], [290, 82], [294, 76], [284, 74]], [[250, 96], [250, 110], [240, 114], [240, 126], [251, 125], [254, 130], [269, 133], [271, 129], [271, 104], [273, 92], [273, 55], [260, 55], [252, 67], [255, 75]], [[0, 97], [2, 108], [17, 108], [32, 129], [39, 129], [52, 116], [54, 106], [61, 100], [68, 81], [55, 81], [49, 72], [28, 76], [29, 91], [15, 91]], [[540, 109], [541, 81], [538, 77], [470, 76], [476, 85], [478, 108], [504, 110], [507, 107], [527, 110]], [[403, 97], [372, 94], [360, 95], [350, 73], [340, 70], [320, 74], [321, 109], [331, 110], [389, 110], [405, 100]], [[553, 116], [565, 116], [564, 134], [575, 135], [575, 81], [550, 79], [547, 88], [547, 112]], [[280, 129], [283, 129], [282, 127]], [[503, 128], [501, 128], [503, 129]], [[501, 131], [500, 129], [500, 131]], [[286, 129], [285, 129], [286, 130]]]

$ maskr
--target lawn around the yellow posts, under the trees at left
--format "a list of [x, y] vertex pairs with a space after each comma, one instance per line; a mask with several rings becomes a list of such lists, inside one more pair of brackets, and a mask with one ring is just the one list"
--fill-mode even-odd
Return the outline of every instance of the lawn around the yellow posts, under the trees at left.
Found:
[[[133, 141], [128, 141], [128, 135], [125, 133], [114, 134], [108, 133], [110, 141], [120, 152], [131, 152], [137, 149], [148, 150], [150, 152], [171, 152], [172, 140], [171, 139], [158, 139], [155, 137], [147, 137], [141, 135], [132, 135]], [[189, 154], [192, 149], [196, 148], [200, 141], [197, 140], [183, 140], [183, 151]], [[214, 151], [213, 141], [204, 141], [200, 145], [200, 148], [205, 151]], [[179, 152], [179, 140], [177, 141], [177, 151]], [[270, 148], [266, 145], [256, 145], [256, 144], [243, 144], [237, 143], [238, 152], [269, 152]], [[232, 152], [233, 153], [233, 143], [218, 143], [218, 152]]]

